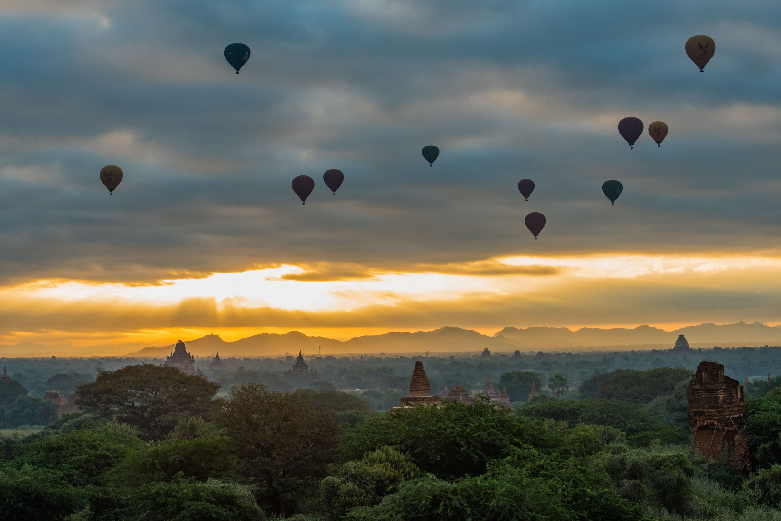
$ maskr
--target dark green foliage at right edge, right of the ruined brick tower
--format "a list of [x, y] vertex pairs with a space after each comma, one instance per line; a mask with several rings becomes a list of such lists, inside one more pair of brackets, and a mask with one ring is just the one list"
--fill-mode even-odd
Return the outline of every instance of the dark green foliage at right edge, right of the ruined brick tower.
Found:
[[760, 398], [746, 400], [744, 418], [751, 431], [749, 443], [757, 450], [758, 463], [781, 463], [781, 387]]

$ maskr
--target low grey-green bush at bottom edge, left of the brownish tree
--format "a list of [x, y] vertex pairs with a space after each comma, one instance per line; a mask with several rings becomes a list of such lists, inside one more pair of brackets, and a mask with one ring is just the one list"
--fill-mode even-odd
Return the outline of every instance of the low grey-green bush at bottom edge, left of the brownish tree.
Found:
[[246, 487], [177, 476], [169, 483], [141, 485], [130, 505], [138, 521], [259, 521], [265, 519]]

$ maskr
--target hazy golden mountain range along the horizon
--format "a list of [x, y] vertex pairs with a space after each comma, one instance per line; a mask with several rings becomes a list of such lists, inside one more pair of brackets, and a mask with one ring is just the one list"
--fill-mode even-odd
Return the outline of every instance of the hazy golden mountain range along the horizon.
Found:
[[[284, 335], [261, 333], [235, 342], [226, 342], [219, 335], [185, 341], [187, 351], [195, 356], [278, 356], [283, 353], [297, 354], [301, 349], [307, 355], [319, 352], [325, 355], [335, 353], [456, 353], [476, 352], [488, 348], [492, 352], [515, 349], [566, 349], [585, 350], [621, 347], [623, 349], [648, 349], [650, 347], [672, 348], [678, 335], [686, 335], [693, 345], [734, 346], [781, 343], [781, 328], [773, 328], [759, 322], [746, 324], [700, 324], [675, 331], [665, 331], [651, 326], [637, 328], [504, 328], [494, 336], [482, 335], [477, 331], [462, 328], [439, 328], [434, 331], [402, 333], [393, 331], [383, 335], [365, 335], [346, 341], [322, 336], [307, 336], [300, 331]], [[173, 344], [164, 347], [148, 347], [130, 356], [162, 358], [173, 351]]]

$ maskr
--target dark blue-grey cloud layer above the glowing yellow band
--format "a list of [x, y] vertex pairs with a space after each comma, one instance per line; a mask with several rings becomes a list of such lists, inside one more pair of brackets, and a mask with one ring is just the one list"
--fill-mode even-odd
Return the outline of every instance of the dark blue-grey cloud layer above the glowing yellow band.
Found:
[[[777, 2], [27, 5], [0, 17], [5, 282], [754, 251], [781, 235]], [[702, 33], [717, 43], [704, 74], [683, 52]], [[239, 76], [234, 41], [252, 48]], [[624, 115], [668, 122], [662, 148], [644, 135], [629, 151]], [[114, 196], [106, 164], [126, 172]], [[337, 196], [327, 168], [345, 172]], [[301, 174], [317, 182], [305, 206]], [[624, 183], [615, 206], [606, 179]], [[547, 215], [538, 241], [528, 211]]]

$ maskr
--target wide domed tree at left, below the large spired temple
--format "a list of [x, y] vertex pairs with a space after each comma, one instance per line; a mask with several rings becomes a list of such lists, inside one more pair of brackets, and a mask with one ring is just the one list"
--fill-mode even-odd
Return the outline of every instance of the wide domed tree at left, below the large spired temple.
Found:
[[138, 427], [141, 438], [160, 440], [179, 420], [208, 416], [219, 384], [184, 374], [176, 367], [149, 363], [99, 371], [94, 382], [77, 388], [85, 411]]

